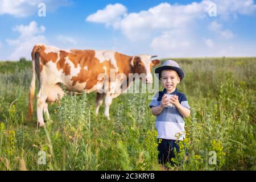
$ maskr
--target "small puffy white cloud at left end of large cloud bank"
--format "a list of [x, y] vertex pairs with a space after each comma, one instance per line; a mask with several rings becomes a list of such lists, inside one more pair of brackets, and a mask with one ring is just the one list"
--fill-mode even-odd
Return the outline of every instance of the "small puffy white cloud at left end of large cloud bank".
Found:
[[105, 9], [98, 10], [96, 13], [89, 15], [86, 18], [86, 21], [110, 24], [120, 19], [126, 11], [126, 7], [119, 3], [116, 3], [115, 5], [107, 5]]

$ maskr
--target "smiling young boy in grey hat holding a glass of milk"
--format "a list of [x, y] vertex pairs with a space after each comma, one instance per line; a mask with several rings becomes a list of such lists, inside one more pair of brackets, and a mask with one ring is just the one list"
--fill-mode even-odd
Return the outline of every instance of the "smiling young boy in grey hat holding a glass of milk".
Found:
[[[158, 160], [160, 164], [171, 163], [175, 158], [174, 150], [179, 152], [177, 140], [185, 138], [184, 118], [190, 115], [185, 94], [180, 93], [176, 86], [183, 80], [184, 73], [173, 60], [167, 60], [155, 69], [155, 74], [161, 81], [164, 90], [156, 93], [150, 103], [152, 114], [156, 115], [156, 130], [158, 131]], [[168, 99], [167, 95], [171, 94]]]

